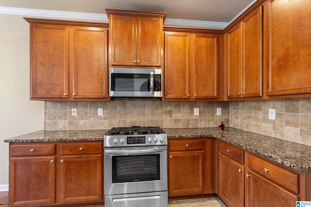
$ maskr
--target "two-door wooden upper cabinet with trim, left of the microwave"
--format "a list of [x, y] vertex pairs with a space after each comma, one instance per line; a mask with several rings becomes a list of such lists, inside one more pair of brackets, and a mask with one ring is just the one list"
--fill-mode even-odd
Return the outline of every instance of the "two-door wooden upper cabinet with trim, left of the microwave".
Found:
[[32, 100], [108, 97], [107, 28], [83, 22], [25, 19], [30, 23]]

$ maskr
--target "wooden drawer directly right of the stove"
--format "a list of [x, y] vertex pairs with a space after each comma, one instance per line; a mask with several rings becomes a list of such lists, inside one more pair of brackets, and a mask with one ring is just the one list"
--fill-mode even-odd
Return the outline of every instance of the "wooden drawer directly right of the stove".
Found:
[[169, 141], [169, 150], [204, 150], [204, 140]]

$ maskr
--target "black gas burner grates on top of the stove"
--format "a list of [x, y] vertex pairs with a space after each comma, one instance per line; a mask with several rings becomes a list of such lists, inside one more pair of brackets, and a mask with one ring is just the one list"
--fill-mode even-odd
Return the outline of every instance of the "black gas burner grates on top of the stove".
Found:
[[140, 134], [165, 134], [160, 127], [113, 127], [106, 135], [140, 135]]

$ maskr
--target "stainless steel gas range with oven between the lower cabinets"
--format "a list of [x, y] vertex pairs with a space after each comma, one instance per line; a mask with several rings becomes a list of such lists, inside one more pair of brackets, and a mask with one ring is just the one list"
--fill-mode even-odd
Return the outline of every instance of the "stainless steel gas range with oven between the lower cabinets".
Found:
[[167, 135], [115, 127], [104, 136], [105, 207], [167, 207]]

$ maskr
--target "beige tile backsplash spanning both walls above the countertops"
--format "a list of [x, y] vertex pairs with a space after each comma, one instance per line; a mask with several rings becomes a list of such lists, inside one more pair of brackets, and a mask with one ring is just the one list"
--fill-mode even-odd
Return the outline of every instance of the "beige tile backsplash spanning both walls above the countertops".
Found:
[[[71, 115], [71, 109], [77, 115]], [[98, 109], [103, 116], [98, 116]], [[199, 108], [199, 115], [194, 115]], [[222, 115], [216, 109], [222, 108]], [[268, 118], [269, 109], [276, 119]], [[227, 127], [311, 145], [311, 98], [254, 101], [45, 101], [45, 130], [110, 129], [158, 126], [164, 128]]]

